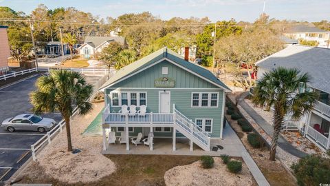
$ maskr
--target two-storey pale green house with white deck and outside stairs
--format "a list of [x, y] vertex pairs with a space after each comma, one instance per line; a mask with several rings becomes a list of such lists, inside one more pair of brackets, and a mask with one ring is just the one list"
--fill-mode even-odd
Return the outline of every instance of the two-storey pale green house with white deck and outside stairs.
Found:
[[[210, 71], [162, 48], [119, 70], [102, 87], [103, 149], [106, 130], [126, 138], [153, 134], [155, 138], [188, 138], [210, 151], [210, 138], [222, 138], [225, 92], [231, 90]], [[123, 114], [123, 105], [136, 105], [146, 113]], [[120, 110], [122, 110], [120, 112]], [[152, 147], [151, 147], [152, 149]], [[126, 144], [129, 150], [129, 144]]]

